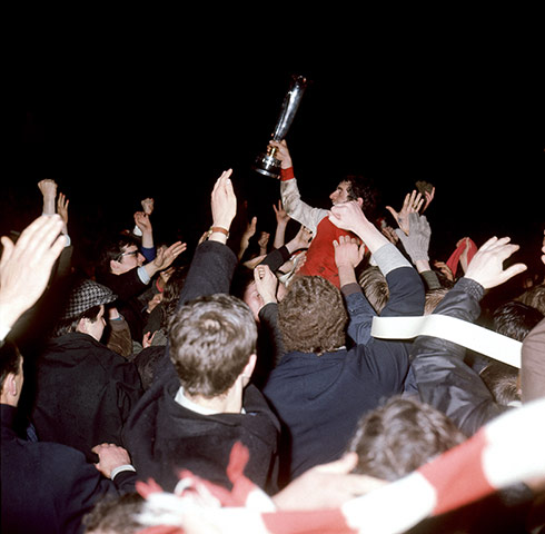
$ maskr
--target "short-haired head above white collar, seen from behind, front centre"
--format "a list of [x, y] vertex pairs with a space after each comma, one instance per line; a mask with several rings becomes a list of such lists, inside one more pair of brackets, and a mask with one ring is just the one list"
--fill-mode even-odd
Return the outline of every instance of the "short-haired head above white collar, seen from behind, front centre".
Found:
[[248, 364], [255, 365], [256, 322], [231, 295], [199, 297], [182, 306], [169, 323], [168, 338], [170, 359], [189, 395], [222, 395]]

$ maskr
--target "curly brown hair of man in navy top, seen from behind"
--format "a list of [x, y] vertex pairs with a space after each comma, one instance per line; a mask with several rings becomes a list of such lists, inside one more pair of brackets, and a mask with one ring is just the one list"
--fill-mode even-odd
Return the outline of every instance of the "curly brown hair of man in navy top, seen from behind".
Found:
[[320, 276], [297, 276], [278, 304], [278, 325], [287, 352], [324, 354], [346, 342], [343, 295]]

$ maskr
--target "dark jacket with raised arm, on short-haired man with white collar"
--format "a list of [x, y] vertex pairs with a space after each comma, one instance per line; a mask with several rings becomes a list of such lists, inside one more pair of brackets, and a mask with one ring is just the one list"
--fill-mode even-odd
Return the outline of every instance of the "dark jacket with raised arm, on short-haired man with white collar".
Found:
[[[237, 258], [227, 246], [205, 241], [195, 251], [180, 295], [179, 306], [205, 295], [229, 293]], [[278, 468], [279, 423], [261, 393], [245, 389], [246, 414], [196, 414], [175, 400], [179, 377], [168, 357], [158, 360], [155, 382], [139, 400], [123, 432], [139, 477], [152, 477], [165, 490], [178, 482], [179, 468], [229, 486], [226, 467], [235, 442], [249, 448], [245, 474], [260, 487], [274, 492]]]

